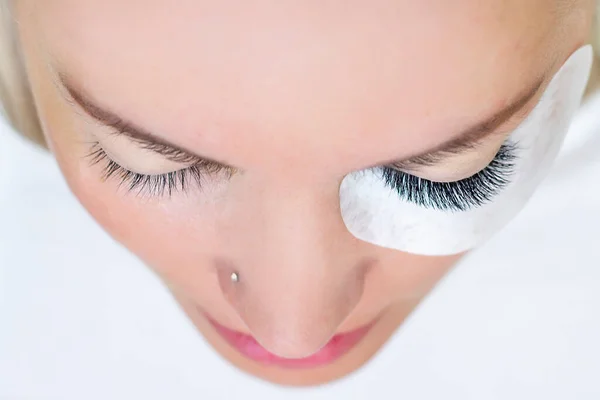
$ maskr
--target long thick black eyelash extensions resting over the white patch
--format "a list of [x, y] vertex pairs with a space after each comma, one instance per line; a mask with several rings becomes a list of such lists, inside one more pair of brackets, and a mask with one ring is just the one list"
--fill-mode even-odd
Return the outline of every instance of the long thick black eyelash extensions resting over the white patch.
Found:
[[390, 167], [382, 179], [403, 200], [441, 211], [468, 211], [490, 202], [511, 180], [517, 146], [505, 143], [492, 162], [475, 175], [456, 182], [434, 182]]

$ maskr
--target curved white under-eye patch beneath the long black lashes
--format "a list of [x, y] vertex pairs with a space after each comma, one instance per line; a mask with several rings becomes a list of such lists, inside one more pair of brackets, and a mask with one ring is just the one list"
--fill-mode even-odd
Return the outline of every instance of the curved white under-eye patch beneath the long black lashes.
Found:
[[429, 256], [458, 254], [488, 240], [548, 173], [581, 103], [592, 59], [589, 45], [573, 53], [495, 161], [473, 179], [436, 185], [384, 168], [346, 176], [340, 205], [348, 230], [378, 246]]

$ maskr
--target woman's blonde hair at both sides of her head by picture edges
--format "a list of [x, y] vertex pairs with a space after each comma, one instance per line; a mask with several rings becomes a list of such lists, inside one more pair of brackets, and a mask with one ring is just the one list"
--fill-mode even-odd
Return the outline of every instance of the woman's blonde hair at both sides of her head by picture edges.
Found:
[[[0, 111], [17, 132], [46, 147], [18, 46], [10, 1], [0, 0]], [[596, 62], [587, 93], [600, 87], [600, 1], [598, 7], [591, 39], [596, 50]]]

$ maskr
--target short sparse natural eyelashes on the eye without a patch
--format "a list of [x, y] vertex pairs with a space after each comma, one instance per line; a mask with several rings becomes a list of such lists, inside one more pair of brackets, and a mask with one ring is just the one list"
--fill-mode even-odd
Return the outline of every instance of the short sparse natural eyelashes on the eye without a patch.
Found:
[[138, 195], [147, 193], [151, 196], [164, 196], [167, 194], [170, 197], [175, 192], [187, 191], [192, 183], [202, 186], [205, 174], [218, 173], [224, 169], [222, 165], [196, 160], [193, 165], [178, 171], [157, 175], [140, 174], [129, 171], [111, 160], [99, 143], [93, 144], [87, 158], [90, 159], [92, 166], [104, 164], [101, 176], [103, 181], [116, 178], [119, 180], [119, 187], [126, 185], [127, 191], [136, 191]]

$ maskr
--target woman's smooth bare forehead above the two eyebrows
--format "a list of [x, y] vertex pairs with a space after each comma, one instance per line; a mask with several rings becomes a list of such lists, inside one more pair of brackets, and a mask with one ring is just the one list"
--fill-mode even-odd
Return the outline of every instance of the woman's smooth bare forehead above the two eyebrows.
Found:
[[548, 68], [556, 25], [541, 0], [30, 3], [51, 63], [103, 106], [238, 165], [435, 147]]

